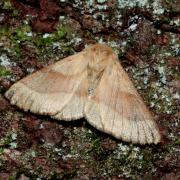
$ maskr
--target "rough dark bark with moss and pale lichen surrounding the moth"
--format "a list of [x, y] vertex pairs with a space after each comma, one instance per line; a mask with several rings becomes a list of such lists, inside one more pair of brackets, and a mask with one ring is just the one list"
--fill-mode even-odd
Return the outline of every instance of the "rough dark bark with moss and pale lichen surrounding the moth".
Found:
[[[180, 178], [178, 0], [2, 0], [0, 9], [1, 179]], [[55, 121], [5, 99], [14, 82], [96, 42], [118, 54], [162, 144], [124, 143], [84, 119]]]

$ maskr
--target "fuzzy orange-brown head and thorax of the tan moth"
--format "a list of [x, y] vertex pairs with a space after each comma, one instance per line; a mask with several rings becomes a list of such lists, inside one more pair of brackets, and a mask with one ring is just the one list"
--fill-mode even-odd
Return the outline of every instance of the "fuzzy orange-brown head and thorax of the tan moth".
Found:
[[103, 44], [94, 44], [87, 49], [89, 68], [94, 71], [103, 71], [108, 65], [117, 59], [113, 50]]

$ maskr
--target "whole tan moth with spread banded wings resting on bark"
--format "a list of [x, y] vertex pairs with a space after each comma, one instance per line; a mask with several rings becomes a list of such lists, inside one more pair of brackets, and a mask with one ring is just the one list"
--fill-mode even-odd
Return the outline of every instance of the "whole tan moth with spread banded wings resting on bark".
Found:
[[161, 141], [153, 115], [106, 45], [91, 45], [23, 78], [5, 96], [24, 111], [57, 120], [84, 117], [98, 130], [123, 141]]

